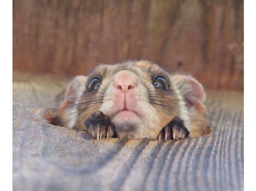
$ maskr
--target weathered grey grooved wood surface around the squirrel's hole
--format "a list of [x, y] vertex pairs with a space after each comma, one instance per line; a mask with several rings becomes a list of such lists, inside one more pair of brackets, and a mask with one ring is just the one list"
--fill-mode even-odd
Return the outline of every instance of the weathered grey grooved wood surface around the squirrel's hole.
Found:
[[13, 190], [243, 190], [242, 93], [207, 91], [209, 137], [94, 141], [42, 119], [63, 79], [13, 77]]

